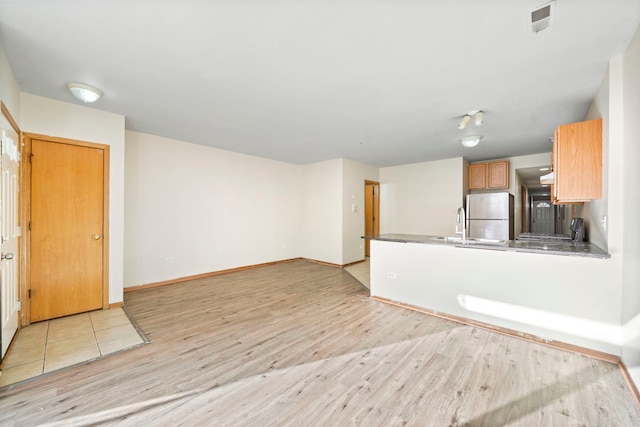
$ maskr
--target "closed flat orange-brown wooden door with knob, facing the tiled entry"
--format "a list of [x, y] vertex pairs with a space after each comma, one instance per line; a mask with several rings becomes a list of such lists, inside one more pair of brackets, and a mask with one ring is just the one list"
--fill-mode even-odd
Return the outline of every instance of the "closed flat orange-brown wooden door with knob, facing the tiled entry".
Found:
[[103, 308], [104, 150], [32, 140], [31, 321]]

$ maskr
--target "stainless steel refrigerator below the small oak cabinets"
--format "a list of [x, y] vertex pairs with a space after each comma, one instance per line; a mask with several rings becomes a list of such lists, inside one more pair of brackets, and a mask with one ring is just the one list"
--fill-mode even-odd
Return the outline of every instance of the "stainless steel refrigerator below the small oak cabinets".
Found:
[[467, 236], [513, 240], [513, 195], [508, 192], [467, 196]]

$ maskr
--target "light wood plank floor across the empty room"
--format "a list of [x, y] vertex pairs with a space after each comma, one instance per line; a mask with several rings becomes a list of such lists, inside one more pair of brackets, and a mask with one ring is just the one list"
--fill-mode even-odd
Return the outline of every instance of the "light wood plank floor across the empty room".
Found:
[[1, 390], [0, 425], [640, 425], [616, 365], [367, 295], [305, 261], [127, 293], [151, 343]]

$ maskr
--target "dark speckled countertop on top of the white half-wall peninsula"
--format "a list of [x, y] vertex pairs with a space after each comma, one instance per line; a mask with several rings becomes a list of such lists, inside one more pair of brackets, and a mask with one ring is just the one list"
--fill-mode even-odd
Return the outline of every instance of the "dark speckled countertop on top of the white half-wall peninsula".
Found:
[[573, 241], [526, 241], [504, 240], [500, 243], [447, 241], [442, 236], [428, 236], [420, 234], [380, 234], [363, 236], [363, 239], [380, 240], [384, 242], [424, 243], [430, 245], [449, 245], [469, 249], [489, 249], [494, 251], [529, 252], [547, 255], [580, 256], [588, 258], [611, 258], [607, 252], [589, 242]]

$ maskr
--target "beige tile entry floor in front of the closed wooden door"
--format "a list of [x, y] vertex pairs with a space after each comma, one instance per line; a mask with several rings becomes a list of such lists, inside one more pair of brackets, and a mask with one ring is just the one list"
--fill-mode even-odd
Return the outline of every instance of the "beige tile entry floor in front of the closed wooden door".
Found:
[[34, 323], [18, 331], [0, 387], [144, 343], [122, 308]]

